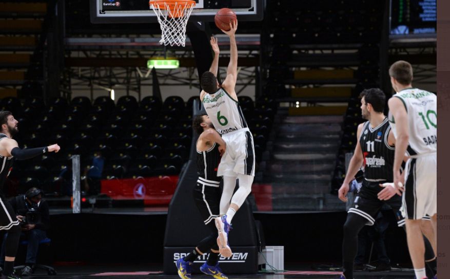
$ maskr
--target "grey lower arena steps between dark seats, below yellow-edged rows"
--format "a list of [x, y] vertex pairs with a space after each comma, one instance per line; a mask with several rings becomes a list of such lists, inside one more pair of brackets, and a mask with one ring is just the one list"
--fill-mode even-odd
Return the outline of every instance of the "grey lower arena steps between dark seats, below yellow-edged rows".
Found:
[[279, 108], [257, 180], [271, 185], [273, 211], [342, 210], [330, 195], [336, 151], [341, 139], [341, 113], [289, 115]]

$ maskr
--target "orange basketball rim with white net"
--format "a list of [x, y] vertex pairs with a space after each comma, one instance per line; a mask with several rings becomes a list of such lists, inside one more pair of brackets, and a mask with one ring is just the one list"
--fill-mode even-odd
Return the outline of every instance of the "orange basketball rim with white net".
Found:
[[150, 7], [161, 26], [160, 44], [185, 46], [187, 20], [195, 6], [193, 0], [151, 0]]

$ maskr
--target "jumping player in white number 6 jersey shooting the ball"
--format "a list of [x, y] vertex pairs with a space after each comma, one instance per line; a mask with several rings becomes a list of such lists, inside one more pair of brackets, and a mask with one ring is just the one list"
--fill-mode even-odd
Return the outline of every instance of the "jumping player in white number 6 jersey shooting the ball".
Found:
[[[219, 231], [219, 251], [224, 256], [231, 253], [228, 246], [231, 220], [250, 194], [251, 183], [255, 177], [253, 137], [238, 103], [238, 96], [234, 91], [238, 76], [238, 47], [234, 36], [237, 28], [238, 23], [233, 22], [230, 23], [229, 31], [222, 30], [230, 37], [230, 62], [224, 82], [219, 84], [216, 78], [219, 66], [219, 46], [217, 39], [214, 38], [211, 38], [210, 42], [215, 53], [214, 60], [211, 68], [203, 73], [200, 81], [203, 89], [200, 93], [200, 100], [203, 102], [212, 124], [226, 143], [226, 152], [222, 156], [217, 171], [218, 176], [223, 176], [224, 182], [220, 200], [221, 217], [217, 217], [215, 220]], [[236, 179], [239, 179], [239, 189], [233, 194]]]

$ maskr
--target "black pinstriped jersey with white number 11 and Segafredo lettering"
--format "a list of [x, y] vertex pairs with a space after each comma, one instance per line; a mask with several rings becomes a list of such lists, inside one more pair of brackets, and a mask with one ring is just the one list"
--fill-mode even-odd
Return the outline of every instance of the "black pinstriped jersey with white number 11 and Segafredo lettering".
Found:
[[395, 147], [387, 141], [390, 125], [387, 118], [375, 128], [364, 123], [359, 138], [364, 156], [364, 179], [367, 181], [393, 181]]

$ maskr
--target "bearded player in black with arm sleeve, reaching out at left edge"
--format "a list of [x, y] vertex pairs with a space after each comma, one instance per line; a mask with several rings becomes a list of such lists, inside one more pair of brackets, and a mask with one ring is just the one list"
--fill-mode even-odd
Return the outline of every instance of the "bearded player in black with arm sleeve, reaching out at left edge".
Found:
[[5, 245], [5, 266], [2, 278], [19, 278], [13, 273], [15, 255], [21, 235], [21, 226], [14, 210], [6, 200], [3, 185], [12, 169], [13, 160], [25, 160], [46, 152], [58, 152], [60, 146], [53, 144], [47, 147], [29, 148], [22, 150], [12, 137], [18, 132], [18, 121], [10, 111], [0, 111], [0, 230], [8, 231]]

